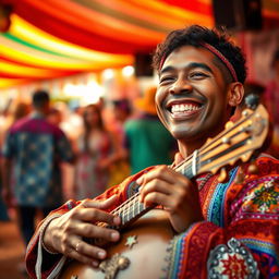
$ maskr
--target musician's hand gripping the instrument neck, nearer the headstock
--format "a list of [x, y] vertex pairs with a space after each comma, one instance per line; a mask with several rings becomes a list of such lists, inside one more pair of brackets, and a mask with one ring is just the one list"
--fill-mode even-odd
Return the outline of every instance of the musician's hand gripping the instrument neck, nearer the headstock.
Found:
[[163, 206], [178, 233], [204, 219], [197, 186], [173, 169], [159, 166], [142, 175], [136, 183], [142, 185], [140, 202], [146, 206]]

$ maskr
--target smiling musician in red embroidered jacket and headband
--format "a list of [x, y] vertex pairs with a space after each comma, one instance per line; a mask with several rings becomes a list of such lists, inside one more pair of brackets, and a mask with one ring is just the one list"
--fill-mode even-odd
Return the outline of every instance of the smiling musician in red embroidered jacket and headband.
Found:
[[[118, 278], [277, 278], [278, 161], [262, 155], [255, 162], [256, 174], [247, 163], [229, 167], [222, 183], [210, 172], [195, 175], [198, 149], [225, 129], [242, 100], [246, 69], [241, 50], [226, 34], [193, 25], [169, 34], [157, 47], [154, 66], [159, 74], [157, 112], [179, 144], [173, 165], [147, 168], [96, 199], [70, 201], [53, 211], [29, 243], [29, 275], [53, 278], [69, 258], [108, 275], [113, 266], [111, 252], [99, 242], [86, 240], [104, 239], [118, 245], [126, 234], [98, 222], [117, 227], [126, 223], [132, 201], [135, 216], [144, 208], [142, 204], [156, 206], [153, 225], [160, 220], [156, 213], [165, 214], [173, 238], [163, 252], [156, 247], [147, 253], [144, 242], [148, 232], [143, 238], [133, 231], [124, 241], [133, 238], [130, 248], [140, 247], [137, 258], [129, 258], [130, 265], [122, 267], [126, 274], [137, 265], [138, 270], [128, 277], [119, 271]], [[190, 165], [189, 175], [179, 171], [182, 161]], [[240, 174], [244, 178], [241, 182]], [[131, 196], [138, 197], [142, 209], [134, 206], [136, 201]], [[112, 211], [120, 205], [125, 206], [122, 215]], [[156, 230], [157, 239], [162, 231], [162, 227]], [[125, 253], [132, 257], [130, 250]], [[148, 264], [161, 254], [167, 259], [149, 268]], [[148, 274], [150, 269], [158, 269], [156, 276]]]

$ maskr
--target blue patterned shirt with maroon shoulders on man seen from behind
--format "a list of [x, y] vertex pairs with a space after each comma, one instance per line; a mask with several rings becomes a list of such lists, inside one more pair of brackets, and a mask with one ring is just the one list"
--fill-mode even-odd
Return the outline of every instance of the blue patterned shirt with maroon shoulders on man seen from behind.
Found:
[[71, 161], [71, 146], [63, 132], [40, 114], [16, 122], [9, 131], [2, 155], [13, 160], [16, 203], [52, 207], [62, 203], [59, 162]]

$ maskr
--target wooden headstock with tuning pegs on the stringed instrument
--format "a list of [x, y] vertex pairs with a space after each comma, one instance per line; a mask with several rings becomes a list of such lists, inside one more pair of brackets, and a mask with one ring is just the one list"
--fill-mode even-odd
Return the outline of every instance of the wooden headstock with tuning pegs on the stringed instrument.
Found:
[[[222, 167], [233, 166], [238, 160], [251, 159], [259, 149], [268, 134], [268, 113], [263, 105], [242, 112], [235, 123], [228, 122], [226, 129], [214, 138], [208, 138], [201, 149], [196, 150], [177, 170], [189, 178], [204, 172], [216, 173]], [[220, 180], [226, 180], [226, 171], [220, 171]]]

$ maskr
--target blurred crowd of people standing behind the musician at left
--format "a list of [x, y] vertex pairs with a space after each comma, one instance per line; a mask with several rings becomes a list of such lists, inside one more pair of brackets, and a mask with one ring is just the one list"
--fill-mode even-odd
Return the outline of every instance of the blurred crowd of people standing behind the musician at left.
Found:
[[0, 220], [16, 220], [27, 244], [65, 201], [94, 198], [140, 169], [170, 165], [177, 145], [157, 117], [155, 94], [151, 87], [134, 101], [70, 109], [36, 90], [29, 104], [10, 106], [0, 118]]

